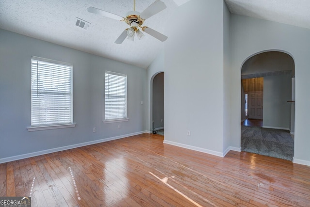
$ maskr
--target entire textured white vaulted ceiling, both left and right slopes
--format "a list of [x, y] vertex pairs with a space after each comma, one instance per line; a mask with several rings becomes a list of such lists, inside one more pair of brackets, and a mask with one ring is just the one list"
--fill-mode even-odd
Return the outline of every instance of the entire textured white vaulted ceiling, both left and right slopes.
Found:
[[[142, 12], [154, 1], [136, 0], [136, 11]], [[189, 0], [162, 1], [167, 8], [145, 20], [143, 25], [165, 34], [167, 19]], [[225, 2], [233, 14], [310, 28], [310, 0]], [[163, 49], [164, 43], [148, 34], [142, 40], [125, 39], [123, 44], [115, 44], [128, 25], [89, 13], [90, 6], [125, 16], [133, 10], [133, 0], [0, 0], [0, 28], [142, 68], [147, 68]], [[76, 17], [91, 23], [87, 30], [75, 25]]]

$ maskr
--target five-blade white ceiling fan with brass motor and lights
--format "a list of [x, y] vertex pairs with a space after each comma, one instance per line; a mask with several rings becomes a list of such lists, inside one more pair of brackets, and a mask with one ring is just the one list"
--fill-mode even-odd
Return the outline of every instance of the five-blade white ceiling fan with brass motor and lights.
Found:
[[97, 9], [94, 7], [89, 7], [87, 10], [88, 12], [93, 13], [93, 14], [102, 15], [102, 16], [106, 16], [109, 18], [113, 18], [116, 20], [126, 22], [130, 27], [125, 29], [124, 32], [115, 40], [116, 44], [122, 44], [126, 37], [127, 39], [134, 41], [135, 32], [137, 33], [138, 38], [142, 39], [144, 37], [144, 34], [139, 30], [139, 28], [141, 28], [143, 32], [150, 34], [156, 39], [162, 42], [165, 41], [168, 38], [167, 36], [149, 27], [142, 26], [142, 24], [145, 19], [157, 14], [158, 12], [166, 8], [167, 6], [164, 2], [162, 2], [161, 0], [156, 0], [153, 4], [151, 4], [148, 8], [146, 8], [142, 13], [139, 13], [139, 12], [136, 12], [136, 0], [134, 0], [134, 11], [128, 12], [126, 14], [126, 17], [115, 15], [113, 13], [110, 13], [110, 12], [107, 12], [101, 9]]

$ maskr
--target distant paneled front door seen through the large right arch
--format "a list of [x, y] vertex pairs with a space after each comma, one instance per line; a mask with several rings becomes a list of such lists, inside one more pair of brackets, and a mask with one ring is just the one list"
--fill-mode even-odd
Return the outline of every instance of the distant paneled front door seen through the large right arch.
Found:
[[263, 120], [263, 92], [248, 93], [248, 118]]

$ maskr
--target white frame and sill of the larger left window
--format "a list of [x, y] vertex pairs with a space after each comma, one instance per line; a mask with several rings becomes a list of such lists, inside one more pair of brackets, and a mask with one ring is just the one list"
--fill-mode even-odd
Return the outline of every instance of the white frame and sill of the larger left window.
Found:
[[[63, 123], [50, 123], [50, 124], [33, 124], [32, 123], [32, 62], [33, 61], [40, 61], [40, 62], [46, 62], [51, 64], [59, 64], [63, 67], [69, 66], [70, 67], [70, 122], [63, 122]], [[57, 94], [57, 93], [55, 93]], [[54, 95], [55, 95], [54, 94]], [[31, 127], [27, 127], [28, 131], [38, 131], [38, 130], [46, 130], [46, 129], [56, 129], [56, 128], [67, 128], [67, 127], [75, 127], [76, 124], [73, 123], [73, 64], [61, 62], [61, 61], [55, 61], [47, 58], [40, 58], [36, 56], [31, 57]]]

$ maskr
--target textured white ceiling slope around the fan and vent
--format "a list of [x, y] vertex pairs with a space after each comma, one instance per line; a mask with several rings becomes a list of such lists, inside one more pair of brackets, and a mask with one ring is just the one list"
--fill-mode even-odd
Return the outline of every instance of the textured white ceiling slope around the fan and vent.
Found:
[[[136, 11], [142, 12], [154, 1], [136, 0]], [[143, 25], [165, 34], [166, 19], [177, 4], [173, 0], [162, 1], [167, 8], [146, 19]], [[133, 0], [0, 0], [0, 28], [142, 68], [148, 67], [163, 49], [163, 42], [146, 33], [142, 40], [125, 39], [123, 44], [115, 44], [129, 26], [89, 13], [90, 6], [126, 16], [133, 10]], [[76, 17], [91, 23], [87, 30], [75, 25]]]

